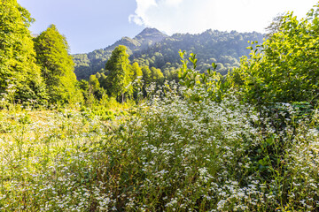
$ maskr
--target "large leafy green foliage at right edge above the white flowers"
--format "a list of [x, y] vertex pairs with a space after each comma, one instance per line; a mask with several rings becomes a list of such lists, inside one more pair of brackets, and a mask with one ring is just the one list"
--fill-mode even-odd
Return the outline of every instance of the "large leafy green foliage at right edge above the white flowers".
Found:
[[292, 13], [281, 19], [279, 31], [252, 49], [231, 73], [245, 101], [256, 104], [310, 102], [319, 94], [318, 10], [298, 20]]

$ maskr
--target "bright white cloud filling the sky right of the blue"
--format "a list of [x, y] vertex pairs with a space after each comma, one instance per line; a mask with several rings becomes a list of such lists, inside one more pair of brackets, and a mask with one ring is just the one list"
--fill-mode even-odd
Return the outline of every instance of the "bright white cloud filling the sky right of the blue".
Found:
[[167, 34], [201, 33], [206, 29], [263, 32], [284, 11], [306, 15], [317, 0], [136, 0], [129, 21]]

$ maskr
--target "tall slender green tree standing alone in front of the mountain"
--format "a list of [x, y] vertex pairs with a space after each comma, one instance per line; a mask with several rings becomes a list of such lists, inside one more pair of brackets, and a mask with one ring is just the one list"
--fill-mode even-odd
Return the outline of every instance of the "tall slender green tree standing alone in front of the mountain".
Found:
[[114, 97], [121, 96], [121, 102], [124, 102], [124, 95], [128, 91], [129, 73], [128, 73], [128, 53], [125, 46], [118, 46], [112, 52], [112, 56], [105, 64], [105, 70], [110, 73], [107, 76], [107, 91]]

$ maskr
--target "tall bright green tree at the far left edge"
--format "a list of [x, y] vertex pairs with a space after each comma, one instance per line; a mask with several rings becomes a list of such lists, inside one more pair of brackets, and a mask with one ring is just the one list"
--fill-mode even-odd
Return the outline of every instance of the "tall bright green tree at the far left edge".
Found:
[[45, 87], [27, 29], [33, 21], [16, 0], [0, 2], [0, 94], [11, 85], [15, 100], [43, 103]]

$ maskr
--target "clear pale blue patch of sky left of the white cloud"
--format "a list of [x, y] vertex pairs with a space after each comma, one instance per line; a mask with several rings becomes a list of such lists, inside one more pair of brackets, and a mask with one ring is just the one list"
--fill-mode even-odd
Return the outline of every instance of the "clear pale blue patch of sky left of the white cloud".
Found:
[[134, 37], [144, 27], [129, 23], [134, 14], [134, 0], [18, 0], [30, 11], [35, 23], [30, 30], [37, 34], [51, 24], [66, 35], [71, 53], [105, 48], [121, 39]]

